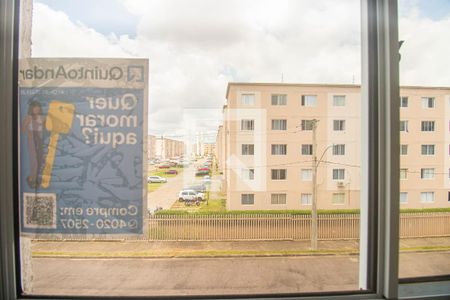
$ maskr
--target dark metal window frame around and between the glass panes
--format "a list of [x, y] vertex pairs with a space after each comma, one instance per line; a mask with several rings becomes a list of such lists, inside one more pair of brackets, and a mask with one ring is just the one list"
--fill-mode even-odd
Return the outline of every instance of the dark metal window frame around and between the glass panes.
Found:
[[[21, 295], [17, 215], [17, 96], [19, 1], [0, 1], [0, 298]], [[398, 14], [397, 1], [361, 0], [362, 125], [360, 285], [367, 291], [315, 293], [302, 299], [444, 298], [450, 277], [415, 283], [398, 279]], [[394, 105], [395, 104], [395, 105]], [[370, 144], [369, 144], [370, 142]], [[370, 145], [370, 147], [369, 147]], [[383, 180], [379, 180], [383, 178]], [[430, 280], [439, 280], [431, 282]], [[38, 299], [39, 296], [33, 296]], [[48, 298], [48, 297], [45, 297]], [[62, 297], [58, 297], [62, 298]], [[103, 297], [104, 299], [108, 297]], [[221, 298], [226, 298], [222, 296]], [[300, 299], [300, 298], [297, 298]]]

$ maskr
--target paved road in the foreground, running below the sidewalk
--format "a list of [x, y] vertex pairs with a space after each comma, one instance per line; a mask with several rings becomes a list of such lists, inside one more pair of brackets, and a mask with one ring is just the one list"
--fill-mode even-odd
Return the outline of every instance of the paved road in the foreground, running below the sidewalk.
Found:
[[[448, 272], [450, 252], [402, 253], [400, 276]], [[169, 259], [34, 258], [42, 295], [213, 295], [358, 288], [358, 256]]]

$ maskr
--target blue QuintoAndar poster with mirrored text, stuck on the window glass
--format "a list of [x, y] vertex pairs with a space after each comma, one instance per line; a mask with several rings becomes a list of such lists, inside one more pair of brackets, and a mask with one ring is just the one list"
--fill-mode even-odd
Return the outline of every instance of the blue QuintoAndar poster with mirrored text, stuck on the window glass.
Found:
[[19, 67], [21, 232], [142, 234], [148, 61]]

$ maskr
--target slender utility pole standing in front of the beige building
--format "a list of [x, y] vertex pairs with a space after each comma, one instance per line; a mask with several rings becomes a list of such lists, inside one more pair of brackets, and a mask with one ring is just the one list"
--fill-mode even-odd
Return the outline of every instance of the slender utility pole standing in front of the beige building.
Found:
[[312, 206], [311, 206], [311, 249], [317, 250], [317, 123], [319, 120], [312, 120]]

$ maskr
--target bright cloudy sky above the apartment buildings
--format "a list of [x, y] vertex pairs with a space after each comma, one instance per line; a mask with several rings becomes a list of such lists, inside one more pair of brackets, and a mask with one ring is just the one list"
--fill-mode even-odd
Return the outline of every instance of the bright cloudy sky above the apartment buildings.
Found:
[[[360, 83], [359, 2], [35, 0], [32, 55], [148, 58], [149, 132], [212, 138], [230, 81]], [[450, 86], [450, 0], [399, 10], [401, 83]]]

